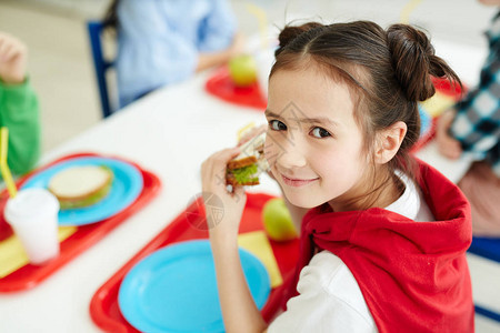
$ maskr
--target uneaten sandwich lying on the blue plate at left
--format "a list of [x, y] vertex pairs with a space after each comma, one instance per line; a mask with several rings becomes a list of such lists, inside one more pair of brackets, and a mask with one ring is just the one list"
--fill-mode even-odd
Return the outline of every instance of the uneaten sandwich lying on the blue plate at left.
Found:
[[71, 167], [56, 173], [48, 190], [59, 200], [61, 210], [78, 209], [103, 200], [112, 181], [113, 172], [106, 165]]

